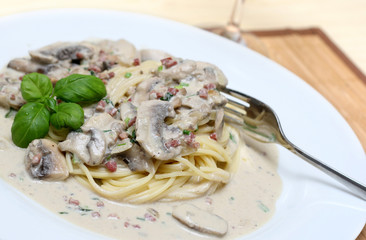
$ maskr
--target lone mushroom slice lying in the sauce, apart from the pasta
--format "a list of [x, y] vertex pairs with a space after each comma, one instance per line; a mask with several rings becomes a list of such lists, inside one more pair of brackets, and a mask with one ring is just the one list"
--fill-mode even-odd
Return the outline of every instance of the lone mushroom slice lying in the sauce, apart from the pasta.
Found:
[[182, 204], [173, 209], [172, 216], [188, 226], [202, 233], [223, 236], [228, 230], [227, 222], [216, 214], [204, 211], [192, 204]]

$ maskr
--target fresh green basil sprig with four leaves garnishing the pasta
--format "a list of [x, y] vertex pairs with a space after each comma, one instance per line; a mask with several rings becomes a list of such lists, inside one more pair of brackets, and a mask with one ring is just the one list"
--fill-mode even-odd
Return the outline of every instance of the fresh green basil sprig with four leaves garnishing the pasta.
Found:
[[[53, 89], [46, 75], [30, 73], [23, 77], [20, 89], [27, 103], [15, 115], [11, 134], [15, 145], [22, 148], [46, 136], [50, 123], [57, 129], [80, 128], [84, 111], [77, 103], [97, 102], [107, 94], [102, 80], [80, 74], [59, 80]], [[65, 102], [57, 104], [55, 97]]]

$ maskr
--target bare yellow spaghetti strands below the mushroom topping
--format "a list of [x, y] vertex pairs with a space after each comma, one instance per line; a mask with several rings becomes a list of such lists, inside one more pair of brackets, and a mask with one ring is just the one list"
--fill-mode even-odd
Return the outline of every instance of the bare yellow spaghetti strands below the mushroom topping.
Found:
[[[237, 134], [230, 126], [225, 126], [224, 132]], [[232, 147], [228, 139], [218, 143], [206, 133], [199, 134], [201, 147], [197, 151], [170, 161], [155, 160], [154, 171], [150, 173], [133, 172], [122, 163], [111, 173], [103, 166], [73, 163], [70, 153], [67, 162], [70, 174], [107, 198], [138, 204], [184, 200], [210, 194], [230, 181], [235, 169], [232, 166], [238, 163], [239, 156], [237, 147], [229, 149]]]

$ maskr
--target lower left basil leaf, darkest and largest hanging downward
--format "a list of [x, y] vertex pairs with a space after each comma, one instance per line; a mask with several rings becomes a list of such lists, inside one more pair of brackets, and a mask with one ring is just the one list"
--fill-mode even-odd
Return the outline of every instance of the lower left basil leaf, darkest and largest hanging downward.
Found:
[[15, 115], [11, 135], [15, 145], [28, 147], [34, 139], [43, 138], [50, 127], [50, 112], [42, 103], [31, 102], [23, 105]]

